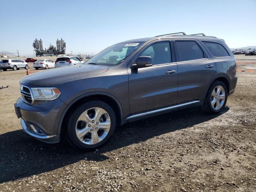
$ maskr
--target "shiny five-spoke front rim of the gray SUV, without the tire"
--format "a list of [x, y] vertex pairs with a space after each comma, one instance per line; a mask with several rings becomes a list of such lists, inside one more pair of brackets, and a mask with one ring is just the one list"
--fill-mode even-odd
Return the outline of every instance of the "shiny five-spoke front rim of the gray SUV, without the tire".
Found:
[[106, 110], [95, 107], [84, 111], [76, 122], [76, 136], [84, 144], [101, 142], [110, 130], [110, 116]]

